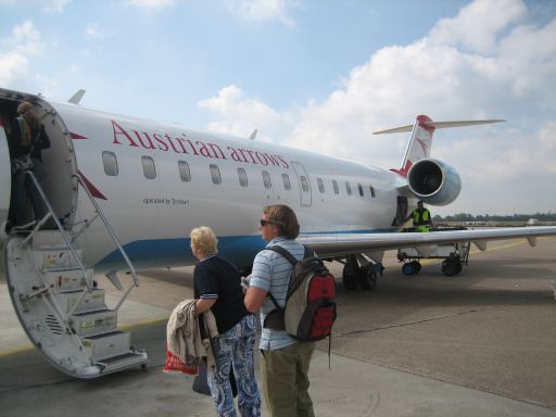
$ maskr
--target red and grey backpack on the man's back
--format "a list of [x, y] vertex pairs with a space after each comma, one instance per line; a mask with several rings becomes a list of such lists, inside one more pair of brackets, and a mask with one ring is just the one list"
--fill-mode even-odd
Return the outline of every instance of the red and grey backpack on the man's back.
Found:
[[286, 330], [299, 341], [316, 341], [331, 334], [336, 320], [336, 280], [323, 261], [305, 247], [303, 261], [298, 261], [286, 249], [266, 248], [286, 257], [293, 269], [288, 283], [286, 306], [276, 306], [265, 317], [264, 327]]

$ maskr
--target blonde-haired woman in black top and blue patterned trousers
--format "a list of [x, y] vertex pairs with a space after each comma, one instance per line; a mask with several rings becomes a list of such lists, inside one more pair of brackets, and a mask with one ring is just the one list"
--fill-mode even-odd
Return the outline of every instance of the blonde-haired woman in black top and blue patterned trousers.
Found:
[[241, 276], [231, 263], [216, 255], [218, 240], [210, 227], [194, 228], [190, 238], [191, 252], [199, 260], [193, 273], [195, 313], [211, 309], [219, 333], [211, 341], [216, 366], [207, 370], [217, 415], [236, 416], [230, 386], [233, 372], [241, 416], [258, 417], [261, 396], [253, 359], [256, 318], [243, 304]]

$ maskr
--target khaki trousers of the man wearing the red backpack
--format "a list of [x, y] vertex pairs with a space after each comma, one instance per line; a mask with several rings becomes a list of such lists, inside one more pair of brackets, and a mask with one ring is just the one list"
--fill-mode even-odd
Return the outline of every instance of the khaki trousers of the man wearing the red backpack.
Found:
[[308, 366], [314, 342], [298, 342], [277, 351], [261, 351], [261, 382], [273, 417], [314, 417], [308, 395]]

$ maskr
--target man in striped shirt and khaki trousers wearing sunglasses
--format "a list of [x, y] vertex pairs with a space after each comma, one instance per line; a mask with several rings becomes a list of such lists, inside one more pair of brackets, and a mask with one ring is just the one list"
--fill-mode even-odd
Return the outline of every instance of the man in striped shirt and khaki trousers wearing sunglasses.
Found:
[[268, 244], [255, 256], [244, 303], [252, 313], [261, 309], [261, 381], [266, 404], [273, 417], [312, 417], [315, 413], [307, 374], [315, 342], [299, 341], [285, 329], [267, 323], [277, 305], [285, 307], [292, 273], [291, 262], [268, 249], [280, 247], [296, 261], [306, 257], [305, 247], [295, 241], [300, 225], [289, 206], [269, 205], [263, 210], [260, 229]]

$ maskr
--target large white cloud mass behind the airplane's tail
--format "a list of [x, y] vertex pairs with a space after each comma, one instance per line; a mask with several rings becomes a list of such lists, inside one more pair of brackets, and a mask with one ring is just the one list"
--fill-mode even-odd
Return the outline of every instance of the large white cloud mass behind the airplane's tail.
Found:
[[[213, 126], [232, 131], [232, 121], [241, 119], [264, 131], [262, 113], [244, 111], [254, 101], [236, 87], [228, 99], [223, 91], [205, 105], [223, 116]], [[256, 104], [273, 115], [270, 124], [282, 124], [282, 136], [275, 137], [281, 142], [386, 168], [399, 167], [407, 135], [371, 137], [372, 130], [410, 124], [418, 114], [438, 121], [513, 115], [506, 125], [437, 132], [433, 156], [458, 169], [468, 186], [466, 198], [446, 210], [467, 204], [481, 213], [507, 206], [508, 184], [527, 201], [534, 200], [525, 197], [532, 184], [556, 184], [556, 122], [541, 115], [556, 113], [555, 98], [556, 18], [532, 26], [520, 0], [478, 0], [440, 21], [426, 38], [378, 50], [321, 102], [311, 100], [287, 116]], [[538, 134], [535, 123], [543, 126]], [[547, 211], [555, 200], [544, 192], [535, 203]]]

